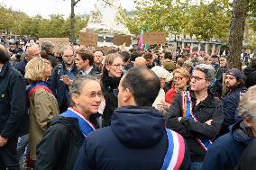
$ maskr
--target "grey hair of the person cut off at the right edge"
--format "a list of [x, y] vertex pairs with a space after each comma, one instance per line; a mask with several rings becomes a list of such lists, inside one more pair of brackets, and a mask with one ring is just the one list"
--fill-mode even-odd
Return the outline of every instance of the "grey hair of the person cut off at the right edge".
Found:
[[238, 106], [238, 112], [242, 118], [248, 120], [256, 117], [256, 85], [251, 86], [248, 91], [243, 94]]

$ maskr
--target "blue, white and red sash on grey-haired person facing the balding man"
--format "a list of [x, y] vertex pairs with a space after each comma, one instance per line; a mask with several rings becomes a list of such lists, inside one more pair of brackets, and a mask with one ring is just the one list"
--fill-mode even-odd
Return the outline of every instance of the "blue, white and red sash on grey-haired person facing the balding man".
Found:
[[90, 132], [96, 130], [95, 126], [90, 121], [87, 121], [81, 112], [78, 112], [74, 108], [69, 108], [66, 112], [61, 113], [60, 116], [66, 118], [77, 118], [79, 129], [85, 137], [87, 137]]

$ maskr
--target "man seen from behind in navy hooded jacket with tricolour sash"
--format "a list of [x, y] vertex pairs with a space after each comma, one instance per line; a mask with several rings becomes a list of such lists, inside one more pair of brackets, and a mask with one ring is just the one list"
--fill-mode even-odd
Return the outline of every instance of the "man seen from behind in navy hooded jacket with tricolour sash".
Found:
[[151, 107], [160, 79], [146, 67], [131, 68], [118, 86], [111, 125], [87, 136], [74, 169], [190, 169], [185, 140], [165, 129]]

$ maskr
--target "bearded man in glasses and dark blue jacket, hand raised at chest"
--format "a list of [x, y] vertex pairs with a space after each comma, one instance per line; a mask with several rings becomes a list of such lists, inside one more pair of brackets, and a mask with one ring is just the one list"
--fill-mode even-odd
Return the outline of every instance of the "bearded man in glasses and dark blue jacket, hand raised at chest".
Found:
[[61, 52], [63, 62], [55, 67], [50, 77], [50, 86], [56, 95], [59, 112], [66, 112], [69, 107], [69, 84], [78, 75], [78, 68], [74, 64], [74, 50], [66, 46]]

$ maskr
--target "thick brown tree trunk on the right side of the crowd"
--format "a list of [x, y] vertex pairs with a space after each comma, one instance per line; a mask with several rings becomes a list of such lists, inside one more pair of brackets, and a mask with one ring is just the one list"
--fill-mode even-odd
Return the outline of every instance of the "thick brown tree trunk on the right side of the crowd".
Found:
[[249, 0], [233, 0], [233, 12], [229, 35], [229, 67], [241, 70], [242, 40]]

